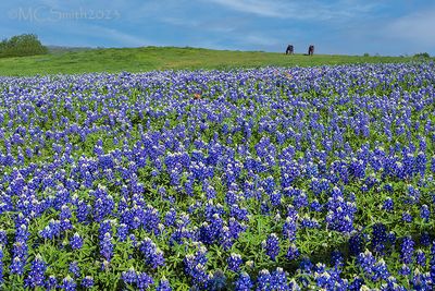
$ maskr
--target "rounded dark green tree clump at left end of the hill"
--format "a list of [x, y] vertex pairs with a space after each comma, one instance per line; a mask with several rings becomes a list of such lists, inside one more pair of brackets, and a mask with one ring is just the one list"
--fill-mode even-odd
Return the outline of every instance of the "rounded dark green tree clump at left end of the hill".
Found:
[[16, 35], [0, 43], [0, 58], [46, 53], [48, 53], [48, 49], [42, 46], [38, 37], [34, 34]]

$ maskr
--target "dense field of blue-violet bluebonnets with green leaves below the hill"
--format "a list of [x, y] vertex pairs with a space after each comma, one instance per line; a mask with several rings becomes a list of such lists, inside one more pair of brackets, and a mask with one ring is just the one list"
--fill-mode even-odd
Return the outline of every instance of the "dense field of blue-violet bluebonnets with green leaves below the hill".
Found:
[[0, 289], [433, 290], [434, 63], [0, 81]]

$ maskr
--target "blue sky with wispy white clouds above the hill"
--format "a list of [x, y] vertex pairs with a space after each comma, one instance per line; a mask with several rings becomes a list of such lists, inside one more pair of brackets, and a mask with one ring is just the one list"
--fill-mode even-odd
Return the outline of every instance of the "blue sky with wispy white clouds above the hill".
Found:
[[0, 37], [46, 45], [435, 54], [431, 0], [1, 1]]

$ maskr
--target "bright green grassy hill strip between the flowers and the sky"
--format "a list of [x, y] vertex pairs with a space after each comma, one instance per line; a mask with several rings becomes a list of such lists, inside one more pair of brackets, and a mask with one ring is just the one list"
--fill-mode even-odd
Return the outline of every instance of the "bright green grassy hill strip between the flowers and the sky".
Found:
[[87, 72], [142, 72], [151, 70], [232, 69], [266, 65], [308, 66], [345, 63], [408, 62], [411, 57], [361, 57], [229, 51], [199, 48], [142, 47], [69, 51], [0, 59], [0, 75], [76, 74]]

